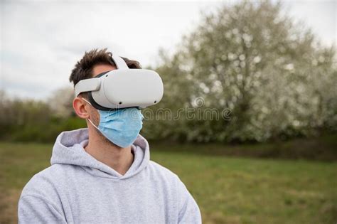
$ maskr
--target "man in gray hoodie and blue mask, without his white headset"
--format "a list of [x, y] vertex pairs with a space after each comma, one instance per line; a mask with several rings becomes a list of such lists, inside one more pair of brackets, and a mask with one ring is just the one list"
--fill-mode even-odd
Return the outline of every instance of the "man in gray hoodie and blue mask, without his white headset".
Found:
[[[129, 68], [140, 68], [137, 61], [123, 60]], [[91, 50], [75, 65], [70, 82], [75, 86], [115, 69], [107, 49]], [[139, 134], [139, 109], [106, 116], [92, 107], [85, 92], [75, 97], [73, 108], [87, 128], [58, 136], [51, 166], [23, 188], [19, 223], [201, 223], [198, 205], [178, 176], [149, 160], [149, 144]], [[132, 119], [137, 125], [129, 122], [131, 110], [137, 110]], [[120, 129], [111, 138], [99, 128], [103, 120], [107, 128], [118, 122]]]

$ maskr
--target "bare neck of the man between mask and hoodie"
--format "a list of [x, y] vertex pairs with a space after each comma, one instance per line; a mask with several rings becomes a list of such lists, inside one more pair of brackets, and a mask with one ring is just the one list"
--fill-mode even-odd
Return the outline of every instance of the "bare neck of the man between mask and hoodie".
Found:
[[134, 161], [131, 146], [121, 148], [106, 142], [106, 139], [103, 138], [95, 130], [89, 129], [89, 143], [85, 146], [85, 151], [119, 174], [124, 175]]

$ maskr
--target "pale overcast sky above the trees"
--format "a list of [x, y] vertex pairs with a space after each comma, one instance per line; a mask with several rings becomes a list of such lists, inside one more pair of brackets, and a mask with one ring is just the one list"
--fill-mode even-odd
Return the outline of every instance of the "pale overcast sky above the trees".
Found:
[[[0, 90], [46, 99], [58, 88], [71, 86], [70, 71], [92, 48], [109, 47], [143, 66], [155, 65], [159, 48], [173, 51], [181, 36], [198, 24], [200, 11], [213, 11], [221, 4], [0, 0]], [[337, 42], [336, 1], [285, 1], [284, 6], [324, 44]]]

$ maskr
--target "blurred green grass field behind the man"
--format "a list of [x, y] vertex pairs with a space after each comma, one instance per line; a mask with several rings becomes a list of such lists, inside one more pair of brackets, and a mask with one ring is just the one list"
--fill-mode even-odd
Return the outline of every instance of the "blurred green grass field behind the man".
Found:
[[[165, 151], [153, 144], [151, 160], [180, 176], [203, 223], [337, 223], [336, 162], [198, 153], [215, 147], [208, 144], [197, 153], [174, 147]], [[0, 143], [0, 223], [17, 222], [21, 189], [49, 166], [51, 149], [52, 144]]]

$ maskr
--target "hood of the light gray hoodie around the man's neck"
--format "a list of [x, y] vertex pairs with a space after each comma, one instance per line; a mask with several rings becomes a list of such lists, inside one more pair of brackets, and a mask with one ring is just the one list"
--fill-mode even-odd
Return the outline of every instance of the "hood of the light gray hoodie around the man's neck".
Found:
[[87, 128], [62, 132], [53, 146], [50, 163], [81, 166], [85, 171], [104, 178], [130, 178], [142, 171], [150, 160], [149, 143], [140, 134], [131, 146], [134, 161], [126, 174], [119, 174], [111, 167], [103, 164], [85, 151], [89, 139]]

